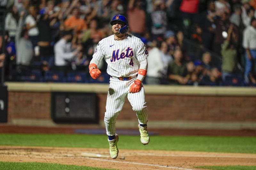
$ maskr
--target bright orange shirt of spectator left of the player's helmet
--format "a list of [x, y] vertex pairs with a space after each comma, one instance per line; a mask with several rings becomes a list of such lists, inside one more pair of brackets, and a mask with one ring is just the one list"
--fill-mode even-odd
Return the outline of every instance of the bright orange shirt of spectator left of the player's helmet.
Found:
[[75, 16], [67, 18], [64, 22], [64, 26], [75, 28], [77, 33], [80, 33], [82, 30], [87, 29], [85, 21], [81, 18], [76, 18]]

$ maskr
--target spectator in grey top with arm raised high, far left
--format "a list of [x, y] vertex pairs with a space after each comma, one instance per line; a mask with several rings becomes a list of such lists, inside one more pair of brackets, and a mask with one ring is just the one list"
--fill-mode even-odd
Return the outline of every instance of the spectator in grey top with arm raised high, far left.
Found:
[[28, 74], [30, 71], [30, 62], [34, 56], [34, 48], [32, 42], [28, 37], [27, 28], [24, 26], [25, 12], [20, 13], [20, 19], [18, 23], [17, 32], [15, 35], [16, 45], [16, 70], [19, 75]]

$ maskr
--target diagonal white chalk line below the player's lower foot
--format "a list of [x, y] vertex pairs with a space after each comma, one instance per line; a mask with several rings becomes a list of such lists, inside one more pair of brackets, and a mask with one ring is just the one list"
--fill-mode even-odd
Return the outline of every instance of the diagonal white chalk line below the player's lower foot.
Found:
[[92, 160], [106, 161], [106, 162], [115, 162], [115, 163], [124, 163], [124, 164], [135, 164], [135, 165], [144, 165], [144, 166], [155, 166], [155, 167], [170, 168], [170, 169], [196, 170], [196, 169], [180, 168], [180, 167], [175, 167], [175, 166], [164, 166], [164, 165], [155, 165], [155, 164], [144, 164], [144, 163], [138, 163], [138, 162], [126, 162], [126, 161], [109, 160], [109, 159], [99, 159], [99, 158], [89, 158], [89, 157], [85, 157], [85, 158], [86, 158], [86, 159], [92, 159]]

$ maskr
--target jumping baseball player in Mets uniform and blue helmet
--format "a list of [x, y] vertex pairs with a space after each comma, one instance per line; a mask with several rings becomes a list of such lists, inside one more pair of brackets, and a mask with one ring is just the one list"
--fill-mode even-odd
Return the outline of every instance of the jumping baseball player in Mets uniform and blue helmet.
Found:
[[139, 120], [140, 141], [149, 143], [147, 130], [148, 109], [142, 80], [147, 74], [148, 51], [143, 42], [128, 34], [128, 21], [123, 15], [116, 15], [110, 21], [113, 35], [102, 39], [97, 45], [89, 65], [92, 78], [101, 72], [97, 65], [104, 58], [108, 63], [110, 75], [104, 122], [108, 135], [109, 152], [113, 159], [118, 156], [118, 135], [116, 134], [116, 116], [121, 112], [127, 97]]

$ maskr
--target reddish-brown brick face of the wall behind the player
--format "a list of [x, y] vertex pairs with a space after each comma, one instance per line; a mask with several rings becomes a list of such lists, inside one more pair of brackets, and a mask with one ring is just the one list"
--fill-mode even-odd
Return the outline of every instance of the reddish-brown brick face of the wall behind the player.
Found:
[[[50, 92], [8, 93], [8, 120], [51, 119]], [[100, 120], [103, 120], [107, 94], [98, 94]], [[146, 95], [149, 118], [154, 121], [256, 122], [255, 96]], [[126, 99], [118, 120], [137, 120]]]

